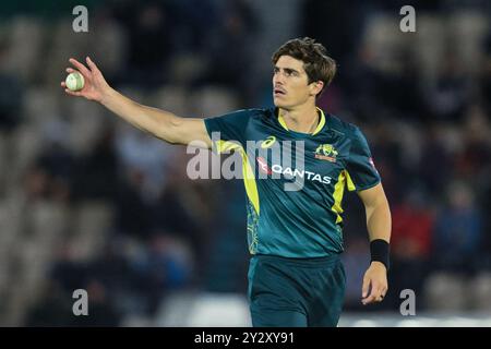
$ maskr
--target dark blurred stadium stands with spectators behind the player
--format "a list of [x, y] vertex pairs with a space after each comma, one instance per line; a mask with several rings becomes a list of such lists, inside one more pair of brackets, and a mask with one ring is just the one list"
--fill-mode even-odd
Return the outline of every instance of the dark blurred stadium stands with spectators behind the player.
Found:
[[[72, 9], [88, 9], [88, 33]], [[416, 33], [399, 9], [416, 8]], [[345, 197], [340, 326], [491, 326], [487, 0], [7, 1], [0, 7], [0, 325], [249, 326], [242, 183], [59, 87], [89, 55], [111, 85], [187, 117], [270, 106], [271, 53], [338, 61], [320, 105], [367, 134], [393, 213], [390, 292], [360, 305], [364, 213]], [[88, 291], [89, 316], [72, 314]], [[403, 289], [416, 316], [402, 316]]]

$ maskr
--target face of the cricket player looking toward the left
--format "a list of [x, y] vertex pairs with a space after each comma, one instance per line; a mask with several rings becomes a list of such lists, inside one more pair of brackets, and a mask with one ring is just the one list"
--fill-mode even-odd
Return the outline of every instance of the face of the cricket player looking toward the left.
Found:
[[273, 100], [276, 107], [290, 109], [304, 104], [319, 93], [315, 83], [309, 84], [303, 62], [290, 56], [282, 56], [274, 67]]

